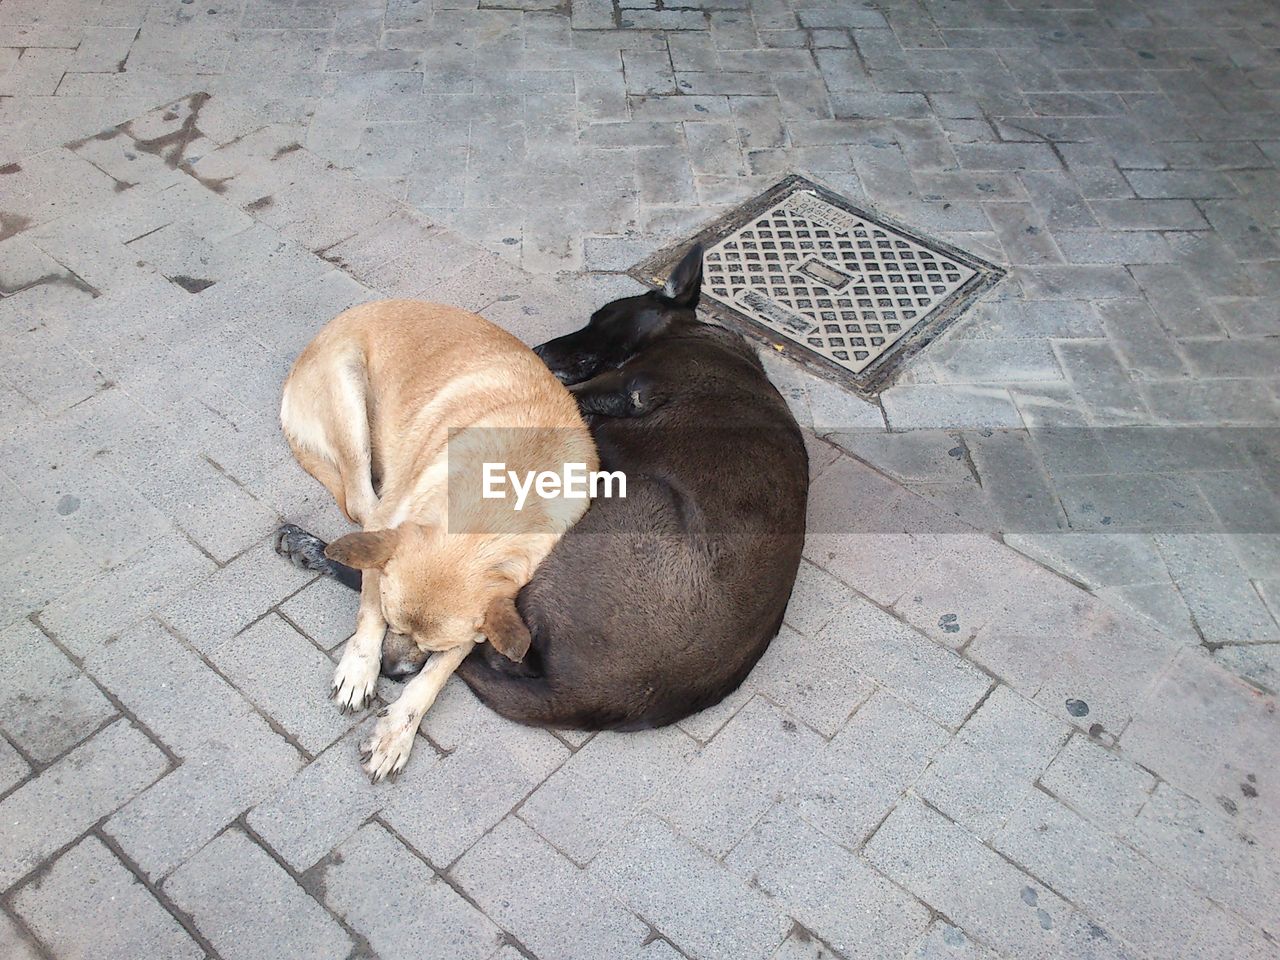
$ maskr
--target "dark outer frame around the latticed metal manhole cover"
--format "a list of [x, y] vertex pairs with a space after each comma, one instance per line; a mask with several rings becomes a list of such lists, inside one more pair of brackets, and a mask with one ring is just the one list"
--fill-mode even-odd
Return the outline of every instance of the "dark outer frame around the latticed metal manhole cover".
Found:
[[914, 324], [883, 355], [858, 374], [845, 370], [827, 357], [823, 357], [795, 340], [771, 330], [763, 324], [744, 316], [737, 310], [721, 303], [713, 297], [707, 296], [704, 292], [699, 303], [699, 311], [705, 312], [717, 323], [730, 328], [731, 330], [736, 330], [758, 343], [769, 346], [772, 349], [777, 351], [792, 362], [799, 364], [805, 370], [817, 374], [826, 380], [840, 384], [845, 389], [852, 390], [859, 396], [874, 398], [884, 388], [892, 387], [893, 379], [916, 353], [942, 334], [955, 320], [963, 316], [979, 297], [1000, 283], [1006, 275], [1006, 271], [996, 264], [988, 262], [987, 260], [960, 250], [950, 243], [923, 234], [919, 230], [908, 227], [902, 221], [892, 216], [886, 216], [872, 207], [860, 207], [856, 204], [851, 204], [835, 191], [800, 174], [791, 174], [767, 189], [764, 193], [760, 193], [753, 200], [733, 207], [727, 214], [718, 216], [716, 220], [707, 224], [707, 227], [694, 236], [663, 247], [653, 256], [649, 256], [632, 266], [627, 273], [646, 287], [662, 289], [667, 282], [667, 275], [671, 273], [671, 269], [680, 261], [680, 257], [692, 243], [701, 242], [704, 248], [710, 248], [716, 243], [726, 239], [728, 234], [741, 229], [764, 211], [782, 202], [786, 197], [801, 191], [813, 192], [823, 202], [831, 204], [832, 206], [838, 207], [840, 210], [844, 210], [845, 212], [861, 220], [867, 220], [869, 224], [883, 225], [890, 230], [901, 234], [913, 243], [918, 243], [927, 250], [937, 251], [938, 253], [942, 253], [946, 257], [955, 260], [957, 264], [973, 270], [973, 276], [943, 297], [943, 300], [929, 311], [924, 320]]

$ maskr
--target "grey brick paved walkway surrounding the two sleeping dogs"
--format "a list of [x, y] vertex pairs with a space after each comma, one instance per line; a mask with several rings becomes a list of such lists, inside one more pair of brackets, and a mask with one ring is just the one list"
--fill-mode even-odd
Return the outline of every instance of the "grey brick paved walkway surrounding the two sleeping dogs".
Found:
[[[0, 956], [1280, 955], [1274, 5], [483, 6], [0, 1]], [[451, 684], [369, 786], [292, 357], [543, 339], [790, 172], [1010, 278], [878, 403], [771, 361], [765, 660], [626, 736]]]

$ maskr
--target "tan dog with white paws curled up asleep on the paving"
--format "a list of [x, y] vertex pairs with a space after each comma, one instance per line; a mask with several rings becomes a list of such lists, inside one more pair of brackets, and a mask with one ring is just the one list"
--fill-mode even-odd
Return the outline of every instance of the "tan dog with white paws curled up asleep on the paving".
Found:
[[332, 320], [284, 383], [280, 424], [298, 463], [364, 527], [325, 550], [364, 571], [338, 705], [372, 695], [388, 626], [439, 652], [362, 746], [378, 781], [404, 765], [422, 714], [476, 643], [524, 657], [516, 594], [586, 509], [585, 498], [530, 495], [520, 509], [485, 498], [484, 463], [594, 471], [595, 444], [525, 344], [475, 314], [407, 300]]

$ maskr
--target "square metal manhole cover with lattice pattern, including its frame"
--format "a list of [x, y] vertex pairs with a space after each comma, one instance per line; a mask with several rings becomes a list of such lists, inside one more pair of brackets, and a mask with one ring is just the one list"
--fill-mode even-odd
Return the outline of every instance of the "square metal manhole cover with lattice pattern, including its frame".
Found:
[[[860, 393], [893, 371], [1002, 271], [790, 177], [694, 239], [717, 319]], [[692, 241], [640, 264], [662, 285]]]

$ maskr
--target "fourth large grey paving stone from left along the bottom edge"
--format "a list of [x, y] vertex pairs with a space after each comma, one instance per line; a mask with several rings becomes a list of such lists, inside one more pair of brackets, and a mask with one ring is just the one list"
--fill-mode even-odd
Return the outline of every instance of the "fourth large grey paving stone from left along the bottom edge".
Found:
[[[515, 817], [468, 850], [451, 876], [503, 929], [539, 957], [631, 956], [648, 925], [600, 882]], [[573, 904], [566, 923], [564, 904]]]

